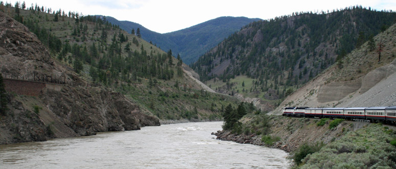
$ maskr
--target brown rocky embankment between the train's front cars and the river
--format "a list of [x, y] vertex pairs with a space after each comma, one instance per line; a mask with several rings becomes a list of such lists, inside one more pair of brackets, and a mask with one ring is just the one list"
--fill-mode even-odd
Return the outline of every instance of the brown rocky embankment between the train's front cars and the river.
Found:
[[[263, 118], [269, 118], [267, 124], [262, 123], [262, 121], [266, 121], [261, 120]], [[329, 143], [339, 139], [348, 131], [356, 131], [369, 124], [342, 121], [336, 127], [329, 129], [329, 124], [334, 120], [328, 119], [323, 122], [323, 125], [318, 125], [320, 120], [313, 118], [252, 115], [241, 120], [243, 121], [243, 127], [240, 133], [218, 131], [215, 135], [217, 139], [221, 140], [266, 145], [286, 152], [292, 152], [298, 149], [303, 143]]]

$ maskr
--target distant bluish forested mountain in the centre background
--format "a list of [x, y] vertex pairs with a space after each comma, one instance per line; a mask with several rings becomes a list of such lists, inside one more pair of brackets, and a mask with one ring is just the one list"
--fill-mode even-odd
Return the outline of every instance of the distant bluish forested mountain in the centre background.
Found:
[[241, 27], [261, 20], [259, 18], [224, 16], [179, 31], [160, 34], [137, 23], [119, 21], [110, 16], [106, 16], [106, 19], [129, 33], [132, 29], [136, 31], [139, 28], [144, 40], [151, 41], [165, 51], [171, 49], [173, 53], [180, 54], [187, 65], [196, 61], [200, 55], [216, 46], [230, 34], [240, 30]]

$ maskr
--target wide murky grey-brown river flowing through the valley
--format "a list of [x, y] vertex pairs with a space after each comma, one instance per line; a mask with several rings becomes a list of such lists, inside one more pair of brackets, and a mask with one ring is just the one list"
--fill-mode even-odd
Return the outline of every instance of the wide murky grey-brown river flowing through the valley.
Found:
[[222, 122], [0, 145], [0, 168], [288, 168], [278, 149], [216, 140]]

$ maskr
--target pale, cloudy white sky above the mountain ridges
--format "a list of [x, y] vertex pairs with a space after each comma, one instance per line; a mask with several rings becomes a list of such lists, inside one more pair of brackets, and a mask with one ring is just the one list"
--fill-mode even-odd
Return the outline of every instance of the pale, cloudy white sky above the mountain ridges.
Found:
[[[0, 0], [12, 5], [16, 1]], [[24, 2], [21, 0], [19, 2]], [[75, 11], [83, 15], [112, 16], [128, 20], [158, 33], [167, 33], [188, 28], [221, 16], [245, 16], [271, 19], [293, 12], [332, 11], [361, 5], [377, 10], [396, 11], [395, 0], [332, 0], [332, 1], [252, 1], [252, 0], [27, 0], [26, 6], [36, 4], [66, 13]]]

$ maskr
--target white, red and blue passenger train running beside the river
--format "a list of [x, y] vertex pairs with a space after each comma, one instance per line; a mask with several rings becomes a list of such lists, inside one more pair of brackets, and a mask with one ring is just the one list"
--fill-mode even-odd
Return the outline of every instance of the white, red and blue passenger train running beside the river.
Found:
[[283, 116], [310, 118], [343, 118], [396, 124], [396, 106], [357, 108], [285, 107]]

